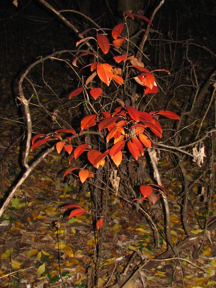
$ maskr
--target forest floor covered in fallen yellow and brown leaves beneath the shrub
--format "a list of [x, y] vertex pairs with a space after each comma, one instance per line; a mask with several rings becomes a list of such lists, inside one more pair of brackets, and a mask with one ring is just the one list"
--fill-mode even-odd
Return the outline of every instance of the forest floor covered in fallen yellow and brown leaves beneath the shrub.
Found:
[[[55, 28], [58, 31], [56, 35], [60, 35], [60, 39], [66, 39], [68, 34], [64, 37], [61, 29], [62, 27]], [[24, 71], [23, 67], [27, 62], [33, 60], [24, 59], [26, 55], [33, 54], [32, 51], [38, 43], [41, 50], [47, 46], [45, 40], [42, 41], [42, 30], [38, 33], [34, 39], [30, 34], [29, 42], [32, 43], [29, 45], [27, 42], [16, 43], [16, 37], [10, 39], [7, 47], [7, 63], [5, 56], [1, 56], [1, 67], [4, 72], [1, 73], [0, 180], [1, 192], [6, 194], [19, 179], [23, 169], [22, 159], [25, 149], [23, 119], [20, 118], [14, 95], [18, 93], [17, 79], [20, 71]], [[53, 35], [50, 35], [50, 39], [52, 37]], [[26, 39], [28, 40], [28, 37], [24, 41], [27, 41]], [[58, 43], [57, 39], [55, 41]], [[67, 45], [68, 42], [69, 40]], [[56, 47], [58, 45], [54, 45], [54, 41], [51, 43], [52, 40], [49, 42], [50, 48], [44, 48], [41, 53], [51, 54], [53, 48], [58, 50], [59, 47]], [[29, 52], [26, 51], [27, 48]], [[3, 43], [2, 50], [6, 51]], [[186, 159], [184, 165], [190, 180], [188, 225], [196, 237], [202, 232], [206, 223], [207, 195], [206, 192], [200, 195], [199, 177], [200, 174], [207, 175], [207, 170], [198, 167], [190, 159]], [[63, 179], [66, 166], [67, 159], [62, 160], [62, 156], [57, 153], [48, 155], [24, 181], [1, 217], [1, 287], [86, 287], [86, 284], [92, 287], [94, 285], [92, 279], [96, 272], [95, 247], [98, 235], [91, 213], [90, 192], [87, 187], [79, 186], [74, 179], [73, 181]], [[186, 238], [186, 235], [180, 217], [182, 186], [180, 179], [173, 177], [174, 170], [175, 167], [170, 159], [160, 160], [159, 172], [162, 175], [163, 186], [168, 191], [171, 234], [175, 247]], [[150, 180], [152, 180], [151, 176], [148, 175], [147, 183]], [[214, 187], [216, 188], [215, 184]], [[3, 200], [3, 195], [1, 197]], [[82, 205], [86, 213], [68, 220], [67, 213], [62, 209], [62, 206], [67, 204]], [[110, 197], [107, 205], [110, 213], [105, 224], [104, 241], [101, 247], [98, 287], [109, 287], [119, 281], [116, 286], [113, 286], [117, 288], [120, 287], [122, 273], [130, 275], [140, 265], [154, 261], [157, 255], [166, 251], [166, 242], [162, 237], [164, 215], [160, 201], [154, 205], [145, 204], [149, 213], [154, 215], [159, 232], [157, 236], [145, 217], [135, 208], [131, 209], [121, 197]], [[209, 221], [214, 219], [214, 215], [216, 215], [215, 192], [209, 205]], [[210, 232], [207, 231], [201, 241], [194, 242], [185, 249], [176, 249], [175, 253], [179, 255], [180, 260], [176, 257], [163, 261], [155, 260], [157, 264], [154, 268], [140, 269], [132, 279], [133, 282], [126, 284], [125, 287], [216, 287], [215, 234], [216, 230], [212, 229]], [[202, 241], [202, 248], [197, 253]], [[124, 280], [122, 281], [124, 283]]]

